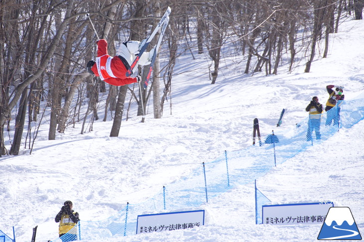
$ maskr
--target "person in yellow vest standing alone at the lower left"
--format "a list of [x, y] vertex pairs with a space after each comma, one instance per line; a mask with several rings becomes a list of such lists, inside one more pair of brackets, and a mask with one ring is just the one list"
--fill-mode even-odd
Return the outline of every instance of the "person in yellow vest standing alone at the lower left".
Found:
[[59, 237], [62, 242], [69, 242], [77, 240], [76, 225], [79, 219], [77, 212], [72, 210], [73, 204], [71, 201], [65, 201], [61, 211], [55, 217], [55, 222], [59, 222]]

